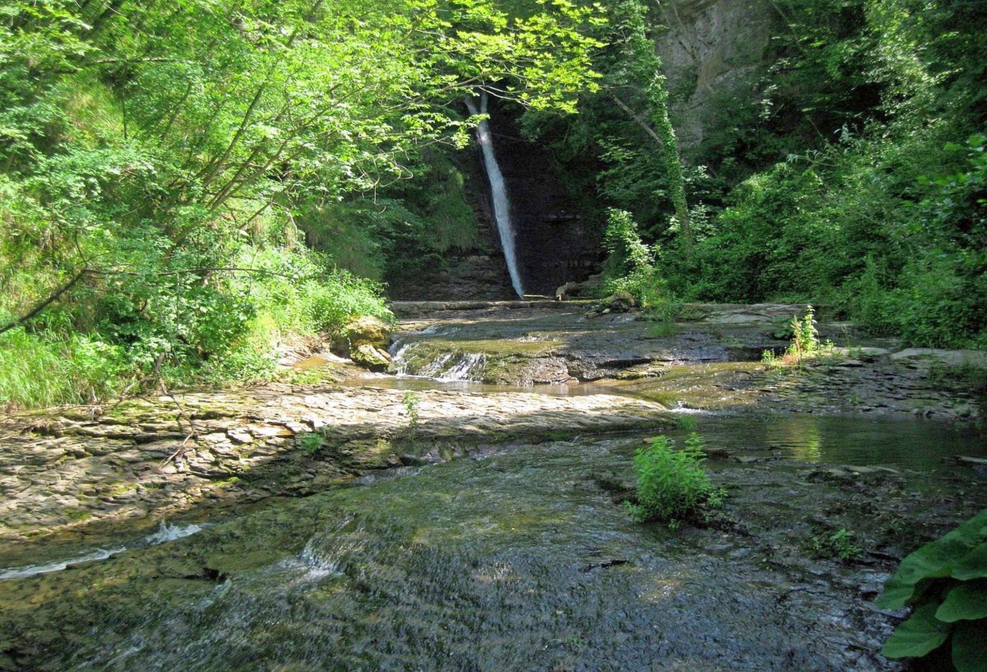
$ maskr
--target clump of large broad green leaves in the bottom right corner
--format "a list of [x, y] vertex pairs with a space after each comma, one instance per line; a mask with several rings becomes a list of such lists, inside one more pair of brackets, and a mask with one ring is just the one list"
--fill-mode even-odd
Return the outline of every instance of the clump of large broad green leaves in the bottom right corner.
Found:
[[959, 672], [983, 669], [987, 659], [987, 509], [942, 539], [901, 561], [874, 600], [883, 609], [914, 605], [881, 653], [889, 658], [922, 657], [951, 639]]

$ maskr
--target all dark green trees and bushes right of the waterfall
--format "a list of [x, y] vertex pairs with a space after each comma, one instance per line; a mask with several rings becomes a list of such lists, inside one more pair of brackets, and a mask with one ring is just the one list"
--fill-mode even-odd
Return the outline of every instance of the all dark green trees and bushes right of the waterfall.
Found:
[[[595, 146], [601, 199], [633, 214], [660, 269], [618, 280], [612, 254], [609, 287], [813, 302], [914, 345], [987, 345], [987, 68], [969, 56], [987, 32], [968, 21], [973, 4], [773, 3], [763, 113], [708, 129], [719, 140], [695, 158], [719, 177], [695, 170], [687, 185], [705, 213], [691, 247], [660, 152], [620, 110], [588, 101], [592, 127], [566, 137]], [[603, 61], [620, 71], [614, 52]]]

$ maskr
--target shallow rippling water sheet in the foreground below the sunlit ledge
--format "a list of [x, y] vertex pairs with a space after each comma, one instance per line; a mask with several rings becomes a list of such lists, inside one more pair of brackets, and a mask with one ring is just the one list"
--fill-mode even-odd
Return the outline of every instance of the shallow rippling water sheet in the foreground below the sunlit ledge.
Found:
[[[761, 507], [754, 518], [766, 505], [816, 502], [791, 491], [803, 460], [928, 469], [942, 465], [930, 448], [971, 447], [917, 421], [698, 420], [712, 446], [776, 459], [750, 484], [749, 504], [747, 490], [733, 495], [741, 520], [748, 505]], [[874, 653], [885, 617], [852, 591], [766, 564], [764, 548], [782, 536], [759, 548], [733, 533], [631, 522], [600, 482], [631, 478], [640, 444], [514, 446], [381, 472], [187, 538], [163, 528], [141, 548], [0, 581], [13, 617], [0, 634], [16, 624], [38, 641], [69, 624], [80, 633], [72, 646], [51, 642], [30, 658], [48, 669], [888, 668]], [[756, 467], [731, 464], [710, 463], [715, 473]], [[851, 584], [886, 575], [828, 571]]]

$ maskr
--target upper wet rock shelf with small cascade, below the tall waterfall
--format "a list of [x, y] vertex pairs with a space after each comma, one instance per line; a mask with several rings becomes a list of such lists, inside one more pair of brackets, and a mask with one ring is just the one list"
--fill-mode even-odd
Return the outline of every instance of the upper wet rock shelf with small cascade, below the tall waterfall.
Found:
[[[789, 345], [797, 304], [684, 304], [653, 321], [640, 313], [585, 316], [591, 302], [408, 303], [392, 370], [490, 384], [602, 381], [607, 388], [671, 407], [981, 416], [987, 374], [949, 367], [984, 364], [976, 351], [902, 349], [853, 325], [820, 322], [836, 343], [828, 357], [796, 366], [760, 363]], [[841, 345], [843, 344], [843, 345]], [[852, 344], [848, 347], [847, 344]]]

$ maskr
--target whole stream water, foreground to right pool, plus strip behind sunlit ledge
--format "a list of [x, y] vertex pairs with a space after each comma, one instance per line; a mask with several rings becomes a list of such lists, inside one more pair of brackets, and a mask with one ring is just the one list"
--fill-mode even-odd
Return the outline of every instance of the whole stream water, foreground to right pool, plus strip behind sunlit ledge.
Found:
[[[381, 389], [532, 388], [342, 381], [355, 398]], [[538, 391], [655, 396], [616, 380]], [[654, 431], [509, 439], [306, 496], [0, 546], [0, 669], [901, 669], [878, 651], [904, 614], [873, 597], [903, 555], [987, 505], [983, 471], [947, 459], [987, 456], [983, 431], [694, 408], [706, 396], [671, 417], [714, 449], [727, 498], [709, 525], [624, 512], [634, 451]], [[839, 529], [858, 560], [813, 550]]]

